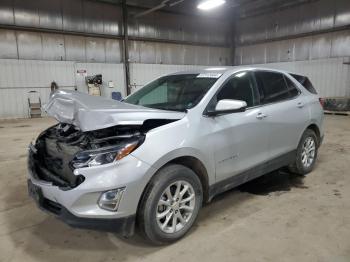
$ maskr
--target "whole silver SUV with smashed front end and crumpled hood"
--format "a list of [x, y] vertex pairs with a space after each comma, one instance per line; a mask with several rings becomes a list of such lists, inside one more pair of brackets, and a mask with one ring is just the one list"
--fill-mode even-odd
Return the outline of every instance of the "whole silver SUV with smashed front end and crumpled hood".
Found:
[[309, 173], [320, 102], [307, 77], [240, 67], [163, 76], [122, 102], [57, 91], [29, 193], [69, 225], [173, 242], [215, 195], [281, 167]]

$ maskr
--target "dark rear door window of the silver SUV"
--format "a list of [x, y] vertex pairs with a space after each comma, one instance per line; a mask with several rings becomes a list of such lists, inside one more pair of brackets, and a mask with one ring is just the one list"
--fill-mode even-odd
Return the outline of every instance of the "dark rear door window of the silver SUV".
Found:
[[289, 98], [289, 91], [281, 73], [260, 71], [255, 73], [263, 104]]

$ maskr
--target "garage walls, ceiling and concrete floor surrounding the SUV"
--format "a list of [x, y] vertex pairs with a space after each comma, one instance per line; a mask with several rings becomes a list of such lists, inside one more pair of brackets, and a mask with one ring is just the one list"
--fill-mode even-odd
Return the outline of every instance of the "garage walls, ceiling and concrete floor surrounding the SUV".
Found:
[[[350, 1], [0, 1], [0, 261], [350, 261]], [[220, 1], [219, 1], [220, 2]], [[216, 197], [164, 247], [73, 229], [27, 194], [26, 151], [52, 88], [134, 92], [161, 75], [253, 66], [306, 75], [330, 113], [315, 170]], [[53, 87], [54, 86], [54, 87]]]

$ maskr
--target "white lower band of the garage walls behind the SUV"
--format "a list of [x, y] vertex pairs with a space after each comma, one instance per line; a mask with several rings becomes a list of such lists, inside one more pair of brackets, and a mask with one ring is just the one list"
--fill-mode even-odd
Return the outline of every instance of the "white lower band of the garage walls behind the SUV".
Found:
[[[349, 65], [344, 64], [344, 58], [253, 66], [307, 75], [322, 97], [350, 96], [350, 69]], [[130, 78], [133, 91], [161, 75], [203, 67], [131, 63]], [[126, 95], [123, 64], [0, 59], [0, 118], [28, 117], [28, 92], [38, 91], [42, 103], [46, 103], [52, 81], [64, 89], [73, 90], [76, 87], [79, 91], [87, 92], [84, 77], [76, 74], [78, 69], [87, 70], [88, 75], [103, 75], [103, 96], [111, 97], [112, 91], [120, 91], [123, 96]], [[113, 89], [106, 87], [108, 81], [114, 82]]]

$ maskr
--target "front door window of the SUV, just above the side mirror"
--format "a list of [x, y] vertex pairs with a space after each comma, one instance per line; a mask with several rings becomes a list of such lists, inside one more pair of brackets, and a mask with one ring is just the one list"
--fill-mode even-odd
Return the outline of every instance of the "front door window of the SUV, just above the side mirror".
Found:
[[234, 99], [245, 101], [248, 107], [258, 103], [258, 92], [250, 72], [242, 72], [229, 79], [216, 95], [216, 101]]

